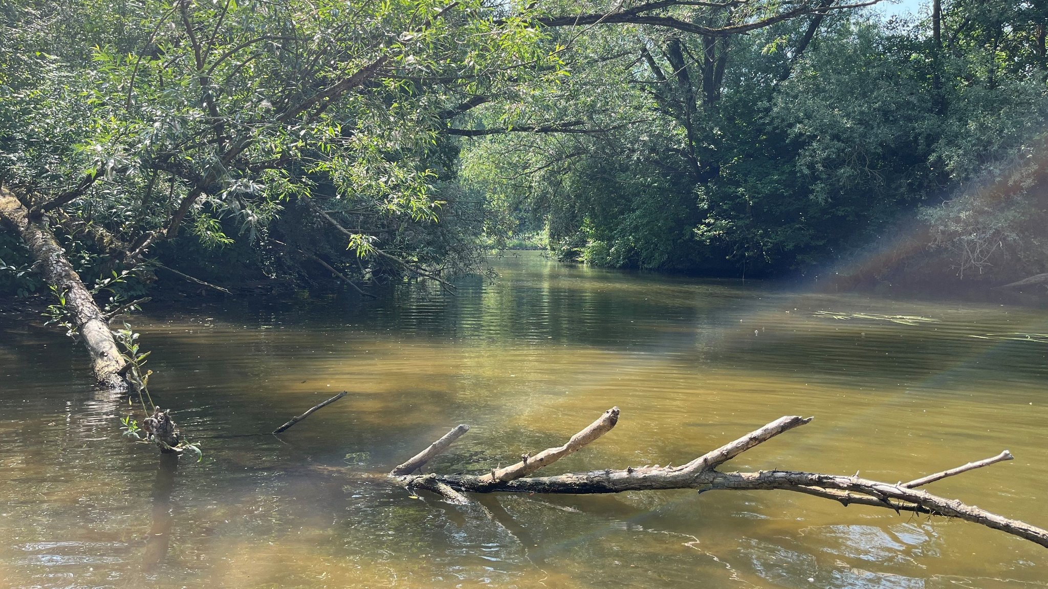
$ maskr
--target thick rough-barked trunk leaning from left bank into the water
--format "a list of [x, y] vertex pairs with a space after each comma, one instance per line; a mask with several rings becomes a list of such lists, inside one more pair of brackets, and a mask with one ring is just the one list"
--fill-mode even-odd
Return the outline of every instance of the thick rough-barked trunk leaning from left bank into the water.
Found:
[[105, 314], [47, 226], [47, 217], [30, 215], [9, 190], [0, 186], [0, 221], [18, 232], [44, 280], [65, 297], [65, 310], [90, 353], [91, 370], [99, 384], [110, 392], [126, 393], [128, 384], [122, 376], [124, 356]]

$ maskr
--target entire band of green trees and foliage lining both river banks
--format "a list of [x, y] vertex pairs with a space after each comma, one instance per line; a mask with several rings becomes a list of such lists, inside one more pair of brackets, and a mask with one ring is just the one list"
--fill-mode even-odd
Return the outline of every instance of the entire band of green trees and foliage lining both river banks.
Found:
[[[1048, 262], [1039, 3], [946, 0], [940, 27], [835, 0], [16, 0], [0, 18], [0, 182], [87, 282], [132, 270], [131, 294], [162, 266], [446, 285], [534, 233], [565, 259], [727, 276], [817, 271], [889, 236], [904, 254], [863, 271]], [[41, 288], [9, 234], [0, 260], [5, 290]]]

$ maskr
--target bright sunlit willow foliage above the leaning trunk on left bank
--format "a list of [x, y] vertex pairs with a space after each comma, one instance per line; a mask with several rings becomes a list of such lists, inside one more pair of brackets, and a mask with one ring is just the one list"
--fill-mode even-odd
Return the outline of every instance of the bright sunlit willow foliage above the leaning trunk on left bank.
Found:
[[101, 258], [88, 275], [165, 263], [310, 284], [331, 268], [378, 281], [473, 268], [493, 217], [456, 187], [443, 121], [559, 71], [534, 29], [496, 12], [17, 2], [0, 182], [88, 244]]

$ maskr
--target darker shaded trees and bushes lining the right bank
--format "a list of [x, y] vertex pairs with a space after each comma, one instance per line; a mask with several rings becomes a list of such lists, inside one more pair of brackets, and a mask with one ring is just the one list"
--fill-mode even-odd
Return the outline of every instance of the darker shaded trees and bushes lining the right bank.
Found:
[[530, 123], [606, 131], [475, 139], [465, 169], [599, 264], [809, 271], [897, 247], [917, 218], [905, 260], [867, 269], [1045, 271], [1046, 10], [944, 2], [941, 48], [931, 18], [855, 12], [727, 40], [591, 30], [556, 90], [570, 107], [540, 96]]

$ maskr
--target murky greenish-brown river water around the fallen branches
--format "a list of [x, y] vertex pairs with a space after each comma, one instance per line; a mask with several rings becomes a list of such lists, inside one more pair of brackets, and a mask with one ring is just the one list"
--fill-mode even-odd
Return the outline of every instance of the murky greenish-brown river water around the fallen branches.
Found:
[[1048, 587], [1029, 542], [786, 492], [486, 496], [492, 519], [318, 473], [388, 471], [459, 422], [432, 468], [485, 471], [613, 405], [615, 430], [552, 473], [679, 464], [802, 414], [727, 466], [894, 482], [1009, 449], [929, 490], [1048, 525], [1043, 310], [497, 267], [454, 298], [138, 318], [154, 397], [206, 452], [176, 467], [121, 438], [126, 406], [95, 398], [80, 350], [0, 318], [0, 586]]

